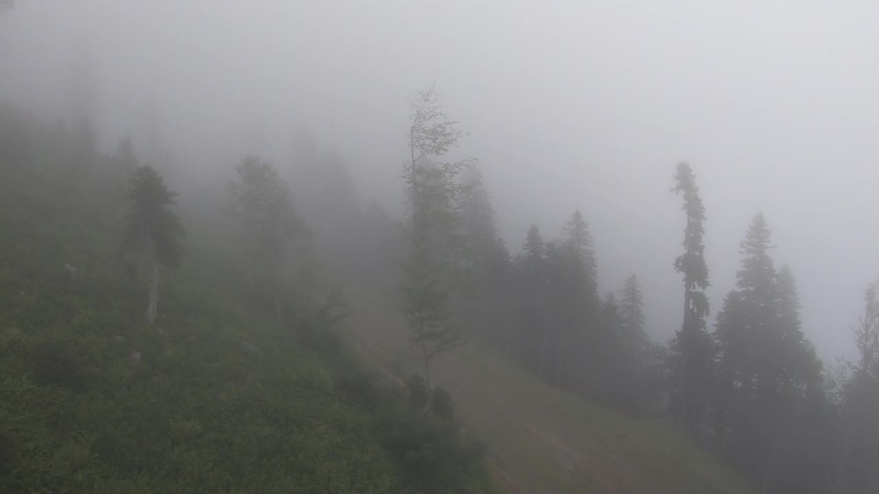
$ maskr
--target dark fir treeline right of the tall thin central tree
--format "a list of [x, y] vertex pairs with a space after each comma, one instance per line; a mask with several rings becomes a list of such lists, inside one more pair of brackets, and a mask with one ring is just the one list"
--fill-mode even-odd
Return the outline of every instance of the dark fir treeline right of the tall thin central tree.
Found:
[[[854, 332], [860, 354], [841, 377], [803, 335], [794, 275], [776, 268], [757, 214], [740, 244], [736, 286], [708, 323], [706, 214], [694, 172], [680, 163], [683, 200], [680, 330], [650, 341], [633, 275], [598, 293], [592, 236], [579, 211], [556, 241], [536, 225], [511, 256], [492, 221], [483, 179], [470, 171], [460, 229], [472, 292], [461, 304], [479, 338], [549, 384], [648, 418], [666, 418], [766, 493], [879, 491], [879, 299], [865, 294]], [[840, 322], [844, 325], [844, 322]]]

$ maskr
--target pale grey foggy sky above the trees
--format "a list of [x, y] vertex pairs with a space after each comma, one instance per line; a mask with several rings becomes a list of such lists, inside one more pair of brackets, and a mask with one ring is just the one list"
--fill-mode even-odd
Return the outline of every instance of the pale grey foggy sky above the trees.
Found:
[[879, 277], [879, 4], [854, 1], [18, 0], [0, 18], [0, 97], [42, 111], [91, 41], [105, 145], [141, 129], [193, 171], [314, 127], [367, 195], [393, 203], [406, 100], [432, 80], [471, 136], [498, 222], [556, 236], [580, 208], [602, 288], [642, 280], [668, 338], [682, 311], [675, 164], [708, 213], [712, 318], [762, 210], [825, 359], [850, 352]]

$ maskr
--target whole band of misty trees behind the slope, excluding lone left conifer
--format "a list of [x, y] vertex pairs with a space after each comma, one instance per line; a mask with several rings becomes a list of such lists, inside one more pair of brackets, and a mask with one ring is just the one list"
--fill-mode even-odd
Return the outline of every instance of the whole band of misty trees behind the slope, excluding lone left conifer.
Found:
[[[560, 218], [548, 236], [532, 225], [519, 249], [505, 245], [476, 162], [444, 161], [461, 133], [439, 108], [432, 88], [413, 102], [412, 157], [403, 165], [408, 208], [399, 222], [374, 203], [365, 206], [344, 160], [318, 152], [313, 140], [299, 140], [290, 163], [276, 167], [251, 156], [238, 165], [229, 205], [246, 252], [242, 279], [261, 284], [252, 291], [262, 299], [256, 303], [281, 321], [294, 316], [284, 301], [293, 276], [287, 261], [295, 259], [281, 259], [293, 255], [292, 243], [309, 238], [323, 261], [349, 279], [401, 287], [411, 343], [425, 363], [425, 410], [432, 408], [434, 381], [442, 380], [432, 376], [432, 360], [479, 338], [551, 386], [668, 420], [760, 492], [879, 491], [875, 286], [865, 292], [854, 331], [859, 354], [843, 375], [834, 374], [803, 335], [795, 277], [776, 267], [771, 230], [757, 214], [740, 245], [736, 286], [710, 319], [707, 212], [694, 171], [680, 163], [670, 183], [686, 227], [682, 251], [669, 262], [683, 281], [681, 326], [668, 344], [651, 341], [635, 275], [619, 280], [618, 291], [599, 294], [599, 262], [581, 212]], [[4, 163], [23, 163], [15, 156], [31, 152], [26, 142], [33, 134], [28, 120], [10, 121], [0, 122], [9, 126], [0, 133], [0, 151]], [[93, 137], [87, 126], [58, 136], [47, 142], [70, 142], [65, 163], [76, 190], [89, 156], [98, 155]], [[126, 174], [136, 161], [130, 148], [123, 141], [115, 156], [100, 159]]]

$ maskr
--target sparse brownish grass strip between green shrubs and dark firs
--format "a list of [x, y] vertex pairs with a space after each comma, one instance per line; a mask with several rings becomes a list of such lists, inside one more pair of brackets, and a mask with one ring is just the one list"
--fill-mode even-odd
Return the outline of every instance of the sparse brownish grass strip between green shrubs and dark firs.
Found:
[[[354, 291], [352, 337], [377, 365], [418, 371], [400, 352], [403, 321], [389, 294]], [[737, 474], [662, 424], [627, 418], [550, 389], [497, 352], [472, 342], [437, 364], [437, 380], [490, 447], [508, 492], [745, 494]]]

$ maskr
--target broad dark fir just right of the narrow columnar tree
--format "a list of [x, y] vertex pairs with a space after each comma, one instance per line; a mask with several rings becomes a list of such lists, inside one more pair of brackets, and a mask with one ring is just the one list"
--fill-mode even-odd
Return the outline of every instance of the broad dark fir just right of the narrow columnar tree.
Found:
[[801, 329], [793, 274], [776, 271], [772, 249], [757, 214], [741, 243], [737, 289], [717, 318], [714, 430], [717, 447], [761, 492], [793, 493], [803, 491], [794, 458], [805, 458], [808, 433], [793, 425], [819, 418], [822, 369]]

